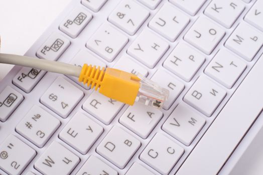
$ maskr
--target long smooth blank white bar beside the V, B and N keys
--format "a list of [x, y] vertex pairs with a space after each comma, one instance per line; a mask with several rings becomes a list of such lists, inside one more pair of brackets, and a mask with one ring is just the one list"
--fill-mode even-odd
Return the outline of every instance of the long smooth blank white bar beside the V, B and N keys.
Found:
[[[216, 174], [263, 108], [263, 55], [176, 174]], [[208, 102], [208, 101], [207, 101]]]

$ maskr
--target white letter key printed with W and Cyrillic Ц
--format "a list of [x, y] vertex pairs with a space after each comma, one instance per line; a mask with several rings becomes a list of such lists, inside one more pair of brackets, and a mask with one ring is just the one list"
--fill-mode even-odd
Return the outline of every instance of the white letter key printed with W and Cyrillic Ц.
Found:
[[53, 141], [35, 162], [34, 167], [43, 174], [70, 174], [79, 161], [77, 155]]

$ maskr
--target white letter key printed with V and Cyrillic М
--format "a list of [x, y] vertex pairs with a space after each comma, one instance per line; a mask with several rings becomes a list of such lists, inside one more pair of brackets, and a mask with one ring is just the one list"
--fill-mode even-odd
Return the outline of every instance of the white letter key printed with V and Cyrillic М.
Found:
[[163, 129], [189, 146], [205, 124], [205, 119], [185, 104], [178, 104], [163, 124]]

